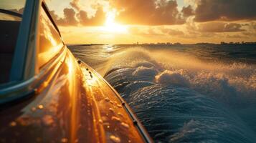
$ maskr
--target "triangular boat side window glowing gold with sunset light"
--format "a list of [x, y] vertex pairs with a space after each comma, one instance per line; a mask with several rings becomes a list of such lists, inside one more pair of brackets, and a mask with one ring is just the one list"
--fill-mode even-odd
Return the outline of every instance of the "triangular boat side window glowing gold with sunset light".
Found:
[[46, 11], [43, 8], [41, 10], [39, 16], [39, 54], [37, 57], [39, 68], [56, 56], [63, 46], [59, 32], [52, 24]]

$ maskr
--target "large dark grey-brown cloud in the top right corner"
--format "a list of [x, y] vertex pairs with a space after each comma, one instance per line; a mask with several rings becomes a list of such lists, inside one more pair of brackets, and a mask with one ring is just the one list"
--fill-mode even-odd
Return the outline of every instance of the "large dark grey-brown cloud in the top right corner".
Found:
[[256, 19], [255, 0], [196, 1], [195, 21], [237, 21]]

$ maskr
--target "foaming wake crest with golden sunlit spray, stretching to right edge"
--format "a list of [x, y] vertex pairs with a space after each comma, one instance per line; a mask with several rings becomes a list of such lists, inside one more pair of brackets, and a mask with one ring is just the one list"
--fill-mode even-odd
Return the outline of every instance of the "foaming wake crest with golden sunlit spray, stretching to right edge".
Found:
[[[143, 78], [149, 82], [189, 87], [222, 102], [229, 102], [229, 97], [249, 98], [255, 102], [255, 65], [204, 63], [189, 56], [177, 54], [170, 56], [170, 51], [160, 51], [159, 53], [154, 51], [152, 55], [145, 49], [128, 49], [116, 55], [110, 60], [111, 64], [115, 65], [115, 69], [121, 68], [121, 70], [115, 71], [115, 76], [122, 74], [122, 77], [128, 78], [125, 79], [126, 82], [129, 80], [140, 81]], [[151, 58], [149, 58], [150, 56]], [[125, 68], [128, 67], [130, 69], [125, 71]], [[105, 66], [105, 71], [110, 71], [112, 68], [111, 65]], [[110, 79], [108, 81], [113, 83], [113, 78], [108, 74], [105, 77], [108, 77], [107, 79]]]

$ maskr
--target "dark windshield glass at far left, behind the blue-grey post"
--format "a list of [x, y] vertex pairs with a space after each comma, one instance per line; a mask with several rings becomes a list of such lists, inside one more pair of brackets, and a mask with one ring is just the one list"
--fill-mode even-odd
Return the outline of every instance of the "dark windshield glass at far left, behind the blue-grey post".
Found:
[[0, 84], [9, 82], [19, 25], [26, 0], [0, 2]]

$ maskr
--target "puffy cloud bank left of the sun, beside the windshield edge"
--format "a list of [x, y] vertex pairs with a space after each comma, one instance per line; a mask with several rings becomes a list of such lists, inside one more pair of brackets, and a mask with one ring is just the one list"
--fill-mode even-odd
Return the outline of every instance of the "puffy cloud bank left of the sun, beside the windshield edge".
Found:
[[[49, 0], [47, 0], [49, 3]], [[82, 4], [81, 0], [72, 0], [69, 6], [63, 9], [63, 16], [57, 15], [54, 11], [49, 11], [52, 18], [60, 26], [103, 26], [105, 24], [105, 6], [107, 1], [95, 0]], [[103, 11], [104, 8], [104, 11]], [[58, 11], [58, 14], [60, 11]]]

